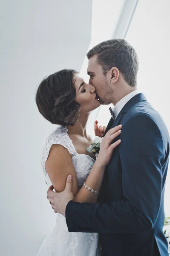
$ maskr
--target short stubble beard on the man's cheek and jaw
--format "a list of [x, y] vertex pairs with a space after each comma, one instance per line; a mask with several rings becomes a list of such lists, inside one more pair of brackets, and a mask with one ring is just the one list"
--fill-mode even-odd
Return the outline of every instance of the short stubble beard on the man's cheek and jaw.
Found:
[[107, 79], [104, 79], [102, 99], [100, 98], [101, 105], [109, 105], [113, 102], [114, 90], [109, 85]]

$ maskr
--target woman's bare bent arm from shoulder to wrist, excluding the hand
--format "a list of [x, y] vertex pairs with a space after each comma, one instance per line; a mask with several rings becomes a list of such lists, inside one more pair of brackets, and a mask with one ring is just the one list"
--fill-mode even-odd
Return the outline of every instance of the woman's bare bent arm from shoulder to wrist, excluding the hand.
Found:
[[[65, 189], [66, 178], [71, 174], [73, 177], [72, 192], [75, 197], [75, 201], [79, 203], [96, 202], [98, 195], [89, 192], [85, 187], [82, 187], [80, 191], [78, 191], [78, 181], [72, 164], [71, 154], [69, 154], [69, 151], [62, 145], [52, 146], [45, 166], [56, 192], [62, 192]], [[103, 175], [104, 166], [98, 166], [96, 160], [96, 163], [92, 167], [89, 177], [86, 180], [86, 184], [88, 184], [92, 189], [99, 191]]]

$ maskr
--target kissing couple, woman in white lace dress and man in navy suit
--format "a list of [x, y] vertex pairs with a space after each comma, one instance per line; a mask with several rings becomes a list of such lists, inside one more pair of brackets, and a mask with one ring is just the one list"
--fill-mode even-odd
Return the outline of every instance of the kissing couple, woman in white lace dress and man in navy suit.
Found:
[[[37, 89], [38, 110], [58, 125], [42, 155], [57, 220], [37, 256], [167, 256], [166, 125], [137, 88], [138, 57], [127, 41], [104, 41], [87, 58], [89, 84], [61, 70]], [[86, 151], [86, 123], [92, 110], [111, 103], [107, 128], [95, 122], [103, 137], [95, 160]]]

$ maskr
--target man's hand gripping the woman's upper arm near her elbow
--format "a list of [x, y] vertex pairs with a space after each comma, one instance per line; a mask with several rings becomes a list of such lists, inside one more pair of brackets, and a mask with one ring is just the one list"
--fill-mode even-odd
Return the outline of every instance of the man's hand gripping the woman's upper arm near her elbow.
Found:
[[74, 196], [72, 193], [72, 175], [69, 175], [66, 180], [66, 188], [63, 192], [54, 192], [53, 186], [50, 186], [47, 191], [47, 198], [52, 205], [52, 209], [55, 212], [61, 213], [63, 216], [66, 215], [66, 206], [69, 201], [74, 201]]

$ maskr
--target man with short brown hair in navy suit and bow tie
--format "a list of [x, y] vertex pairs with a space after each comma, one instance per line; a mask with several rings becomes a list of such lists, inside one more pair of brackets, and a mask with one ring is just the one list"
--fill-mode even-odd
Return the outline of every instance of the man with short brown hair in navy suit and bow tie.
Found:
[[[106, 132], [122, 124], [121, 144], [107, 166], [97, 203], [77, 203], [72, 179], [61, 193], [48, 190], [69, 232], [99, 233], [103, 256], [168, 256], [164, 189], [170, 138], [163, 119], [137, 90], [138, 58], [123, 39], [87, 53], [89, 84], [101, 104], [112, 103]], [[90, 193], [90, 192], [89, 192]]]

